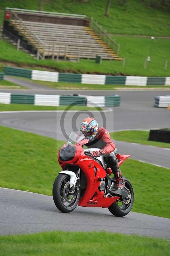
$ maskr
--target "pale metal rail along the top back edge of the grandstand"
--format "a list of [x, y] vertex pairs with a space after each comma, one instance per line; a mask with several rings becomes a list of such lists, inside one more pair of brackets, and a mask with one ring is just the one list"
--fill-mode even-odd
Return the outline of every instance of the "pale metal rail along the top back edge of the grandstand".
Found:
[[5, 8], [5, 11], [13, 11], [13, 12], [22, 12], [22, 13], [37, 13], [37, 14], [46, 14], [46, 15], [53, 15], [53, 16], [66, 16], [66, 17], [77, 17], [86, 19], [86, 15], [80, 14], [71, 14], [71, 13], [62, 13], [62, 12], [44, 12], [44, 11], [35, 11], [35, 10], [27, 10], [27, 9], [18, 9], [18, 8]]

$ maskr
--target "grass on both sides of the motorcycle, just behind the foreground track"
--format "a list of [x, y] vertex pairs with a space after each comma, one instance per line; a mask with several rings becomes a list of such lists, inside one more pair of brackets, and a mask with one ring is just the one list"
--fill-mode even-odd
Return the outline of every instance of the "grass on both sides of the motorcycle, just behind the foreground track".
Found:
[[[57, 140], [56, 147], [56, 140], [3, 126], [0, 134], [0, 187], [51, 195], [60, 171], [56, 149], [64, 142]], [[170, 218], [168, 169], [128, 159], [121, 170], [134, 188], [134, 212]]]

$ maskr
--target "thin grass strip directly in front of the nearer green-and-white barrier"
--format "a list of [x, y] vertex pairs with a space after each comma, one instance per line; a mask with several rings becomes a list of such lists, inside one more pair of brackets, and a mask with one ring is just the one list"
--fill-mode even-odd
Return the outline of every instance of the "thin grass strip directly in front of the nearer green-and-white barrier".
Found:
[[[35, 106], [31, 104], [1, 104], [0, 111], [24, 111], [24, 110], [65, 110], [68, 106]], [[99, 107], [72, 106], [70, 110], [103, 110]]]

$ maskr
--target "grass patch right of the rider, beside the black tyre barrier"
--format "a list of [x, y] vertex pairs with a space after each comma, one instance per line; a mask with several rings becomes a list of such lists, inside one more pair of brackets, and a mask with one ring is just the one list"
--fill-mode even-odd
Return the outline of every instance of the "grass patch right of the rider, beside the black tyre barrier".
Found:
[[170, 143], [148, 140], [149, 131], [120, 131], [111, 132], [110, 135], [113, 140], [122, 140], [161, 148], [170, 148]]

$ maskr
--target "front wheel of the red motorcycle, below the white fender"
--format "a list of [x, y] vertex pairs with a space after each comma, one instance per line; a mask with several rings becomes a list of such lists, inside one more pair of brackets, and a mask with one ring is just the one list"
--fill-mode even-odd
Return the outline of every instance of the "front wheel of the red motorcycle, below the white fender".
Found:
[[59, 174], [52, 189], [54, 203], [58, 210], [64, 213], [72, 212], [76, 208], [80, 197], [77, 187], [73, 195], [70, 193], [69, 181], [69, 175]]

